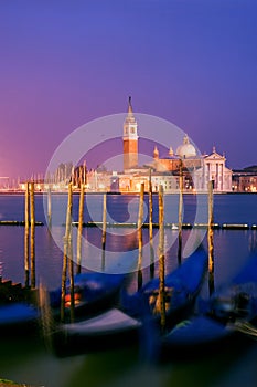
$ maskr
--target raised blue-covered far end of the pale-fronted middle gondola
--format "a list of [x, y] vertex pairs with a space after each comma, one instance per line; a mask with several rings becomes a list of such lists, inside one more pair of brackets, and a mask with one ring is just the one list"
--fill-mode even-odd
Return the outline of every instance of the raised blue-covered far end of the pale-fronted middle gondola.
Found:
[[[174, 325], [194, 308], [207, 269], [207, 253], [199, 247], [164, 279], [165, 322]], [[122, 294], [122, 308], [133, 317], [160, 321], [160, 280], [156, 278], [135, 294]]]

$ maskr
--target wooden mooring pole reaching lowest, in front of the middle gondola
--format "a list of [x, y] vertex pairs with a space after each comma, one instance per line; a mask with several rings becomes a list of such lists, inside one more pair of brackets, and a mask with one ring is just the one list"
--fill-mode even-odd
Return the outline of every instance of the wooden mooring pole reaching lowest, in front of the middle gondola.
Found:
[[165, 331], [165, 255], [164, 255], [164, 200], [163, 186], [159, 186], [159, 280], [161, 331]]

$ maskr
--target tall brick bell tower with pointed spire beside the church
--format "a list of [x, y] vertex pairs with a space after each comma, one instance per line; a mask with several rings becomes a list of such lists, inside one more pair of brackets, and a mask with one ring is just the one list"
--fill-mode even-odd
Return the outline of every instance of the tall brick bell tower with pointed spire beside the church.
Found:
[[138, 123], [133, 116], [131, 97], [124, 123], [124, 170], [138, 166]]

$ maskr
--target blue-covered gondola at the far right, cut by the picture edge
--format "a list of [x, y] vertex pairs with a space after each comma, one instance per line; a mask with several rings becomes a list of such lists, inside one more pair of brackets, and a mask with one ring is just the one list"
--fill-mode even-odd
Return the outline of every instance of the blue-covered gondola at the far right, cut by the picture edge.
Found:
[[180, 322], [159, 341], [160, 360], [204, 356], [226, 346], [246, 344], [257, 336], [257, 255], [250, 254], [242, 271], [208, 300], [197, 313]]

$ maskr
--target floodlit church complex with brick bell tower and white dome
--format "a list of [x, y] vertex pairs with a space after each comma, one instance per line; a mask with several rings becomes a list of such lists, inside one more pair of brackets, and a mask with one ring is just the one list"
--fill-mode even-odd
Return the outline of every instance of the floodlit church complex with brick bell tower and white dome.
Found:
[[158, 144], [153, 144], [152, 161], [139, 166], [138, 140], [138, 123], [129, 97], [122, 130], [124, 170], [120, 172], [95, 170], [88, 174], [88, 190], [138, 192], [141, 182], [144, 182], [147, 191], [151, 170], [153, 191], [158, 191], [162, 185], [165, 192], [175, 192], [179, 190], [182, 170], [184, 192], [207, 191], [211, 180], [215, 192], [232, 191], [232, 170], [226, 167], [225, 156], [219, 155], [215, 148], [210, 155], [200, 155], [189, 136], [184, 135], [182, 144], [175, 151], [170, 146], [164, 157], [160, 157]]

